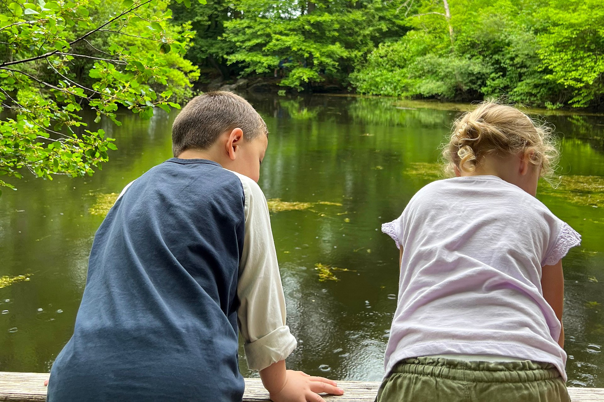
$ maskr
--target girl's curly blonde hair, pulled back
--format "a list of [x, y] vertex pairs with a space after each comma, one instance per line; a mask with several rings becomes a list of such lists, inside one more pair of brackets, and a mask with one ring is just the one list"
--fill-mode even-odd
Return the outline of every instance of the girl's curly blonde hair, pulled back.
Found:
[[449, 143], [443, 146], [445, 171], [473, 172], [486, 155], [525, 152], [541, 176], [553, 175], [559, 152], [552, 128], [533, 121], [515, 107], [485, 101], [455, 120]]

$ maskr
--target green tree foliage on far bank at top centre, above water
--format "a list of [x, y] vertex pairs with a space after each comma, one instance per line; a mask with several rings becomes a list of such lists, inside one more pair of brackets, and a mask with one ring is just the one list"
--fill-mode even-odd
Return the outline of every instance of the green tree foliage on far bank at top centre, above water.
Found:
[[237, 0], [225, 20], [225, 54], [240, 75], [283, 75], [281, 86], [303, 90], [324, 80], [347, 80], [374, 44], [402, 30], [401, 2]]

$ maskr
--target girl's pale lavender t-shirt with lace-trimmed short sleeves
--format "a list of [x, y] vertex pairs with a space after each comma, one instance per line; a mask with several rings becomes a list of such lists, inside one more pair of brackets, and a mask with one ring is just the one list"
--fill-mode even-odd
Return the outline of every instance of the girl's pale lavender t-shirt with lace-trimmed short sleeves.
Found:
[[403, 248], [386, 374], [409, 357], [463, 354], [553, 363], [567, 379], [541, 268], [580, 235], [538, 199], [496, 176], [434, 181], [382, 231]]

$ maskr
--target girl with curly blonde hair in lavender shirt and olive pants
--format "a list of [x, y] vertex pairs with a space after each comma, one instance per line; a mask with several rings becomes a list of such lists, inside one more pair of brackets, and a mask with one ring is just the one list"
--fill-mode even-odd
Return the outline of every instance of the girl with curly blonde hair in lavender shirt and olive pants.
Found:
[[553, 144], [521, 111], [484, 102], [443, 151], [456, 177], [382, 225], [400, 283], [377, 401], [570, 401], [561, 259], [580, 235], [535, 198]]

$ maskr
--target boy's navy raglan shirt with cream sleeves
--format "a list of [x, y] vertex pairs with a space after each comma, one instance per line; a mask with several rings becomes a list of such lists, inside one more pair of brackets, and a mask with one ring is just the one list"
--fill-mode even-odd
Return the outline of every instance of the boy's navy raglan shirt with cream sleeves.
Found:
[[240, 401], [249, 368], [296, 346], [268, 206], [251, 178], [172, 158], [124, 189], [95, 234], [48, 401]]

